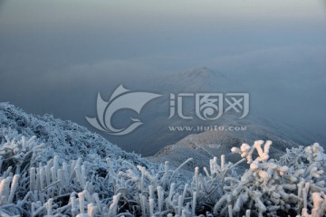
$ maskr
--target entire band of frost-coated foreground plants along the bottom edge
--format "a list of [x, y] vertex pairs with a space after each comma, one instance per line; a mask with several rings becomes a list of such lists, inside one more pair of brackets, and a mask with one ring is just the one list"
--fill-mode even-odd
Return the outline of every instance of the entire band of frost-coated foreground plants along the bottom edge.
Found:
[[[35, 137], [6, 137], [0, 146], [1, 216], [324, 216], [326, 156], [318, 144], [269, 159], [271, 141], [243, 144], [242, 175], [225, 156], [193, 177], [128, 159], [94, 156], [46, 164]], [[254, 157], [256, 156], [256, 157]], [[188, 161], [190, 161], [189, 159]], [[185, 163], [187, 164], [187, 162]]]

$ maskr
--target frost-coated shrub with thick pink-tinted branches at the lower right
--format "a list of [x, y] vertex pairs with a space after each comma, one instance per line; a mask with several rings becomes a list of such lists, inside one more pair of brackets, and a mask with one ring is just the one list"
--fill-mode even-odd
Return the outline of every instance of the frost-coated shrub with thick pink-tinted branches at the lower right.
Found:
[[[279, 161], [269, 159], [271, 141], [232, 148], [250, 164], [240, 179], [226, 178], [225, 195], [216, 203], [217, 215], [322, 216], [325, 213], [326, 157], [318, 144], [287, 150]], [[264, 147], [263, 147], [264, 146]], [[253, 159], [254, 150], [258, 156]], [[314, 198], [314, 199], [313, 199]], [[318, 212], [318, 213], [317, 213]]]

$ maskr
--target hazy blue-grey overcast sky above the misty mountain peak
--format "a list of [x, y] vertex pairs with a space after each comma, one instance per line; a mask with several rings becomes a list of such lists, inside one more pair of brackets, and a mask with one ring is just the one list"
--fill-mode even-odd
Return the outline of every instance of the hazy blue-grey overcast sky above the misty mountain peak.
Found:
[[206, 66], [322, 133], [325, 39], [321, 0], [0, 0], [0, 101], [86, 124], [98, 91]]

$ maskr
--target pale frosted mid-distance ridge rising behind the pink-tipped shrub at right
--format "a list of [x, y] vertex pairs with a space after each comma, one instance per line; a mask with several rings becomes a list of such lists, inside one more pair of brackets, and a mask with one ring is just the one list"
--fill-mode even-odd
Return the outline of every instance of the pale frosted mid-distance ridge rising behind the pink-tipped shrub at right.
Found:
[[[303, 146], [316, 142], [309, 134], [296, 131], [296, 135], [292, 127], [273, 121], [260, 118], [239, 120], [235, 117], [225, 116], [220, 120], [220, 125], [224, 130], [206, 131], [199, 134], [191, 134], [184, 137], [176, 144], [165, 146], [154, 156], [147, 159], [157, 163], [163, 163], [166, 160], [171, 165], [180, 165], [193, 157], [192, 165], [188, 165], [187, 169], [192, 170], [193, 166], [208, 166], [209, 159], [213, 156], [225, 154], [229, 161], [235, 162], [238, 157], [227, 154], [233, 146], [240, 146], [243, 143], [251, 144], [257, 138], [273, 141], [273, 157], [282, 156], [286, 148]], [[246, 127], [243, 131], [230, 131], [228, 127]], [[299, 133], [300, 132], [300, 133]], [[291, 134], [292, 133], [292, 134]]]

